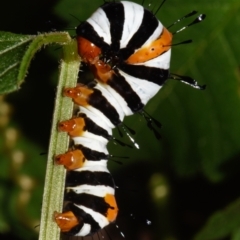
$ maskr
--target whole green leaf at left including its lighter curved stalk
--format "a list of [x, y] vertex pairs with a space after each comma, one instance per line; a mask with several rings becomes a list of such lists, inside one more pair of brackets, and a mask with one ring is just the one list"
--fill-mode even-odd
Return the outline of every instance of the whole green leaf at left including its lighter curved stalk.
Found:
[[66, 44], [71, 37], [66, 32], [24, 36], [0, 32], [0, 94], [18, 90], [25, 79], [36, 52], [48, 44]]

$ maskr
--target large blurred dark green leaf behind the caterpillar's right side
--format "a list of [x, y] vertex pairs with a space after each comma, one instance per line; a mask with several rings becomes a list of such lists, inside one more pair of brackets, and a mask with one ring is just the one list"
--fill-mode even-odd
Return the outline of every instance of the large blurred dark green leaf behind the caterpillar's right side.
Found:
[[231, 176], [224, 166], [240, 151], [240, 48], [235, 33], [240, 2], [209, 4], [201, 1], [199, 6], [192, 6], [207, 18], [183, 32], [193, 43], [173, 48], [171, 67], [206, 84], [206, 90], [169, 82], [159, 94], [162, 101], [155, 101], [157, 106], [153, 103], [152, 109], [163, 119], [164, 142], [170, 144], [167, 155], [175, 171], [180, 176], [200, 173], [218, 182]]

